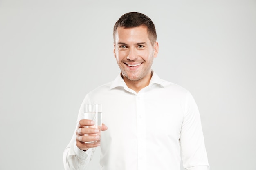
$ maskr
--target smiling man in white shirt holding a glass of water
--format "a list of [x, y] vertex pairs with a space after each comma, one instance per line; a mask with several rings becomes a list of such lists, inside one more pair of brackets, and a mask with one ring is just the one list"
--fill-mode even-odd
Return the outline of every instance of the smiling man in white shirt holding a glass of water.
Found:
[[146, 15], [126, 13], [113, 31], [114, 56], [121, 74], [85, 96], [78, 126], [63, 158], [65, 170], [84, 170], [98, 135], [87, 128], [85, 103], [101, 103], [103, 122], [101, 159], [103, 170], [209, 170], [200, 115], [186, 89], [160, 79], [151, 65], [157, 57], [155, 26]]

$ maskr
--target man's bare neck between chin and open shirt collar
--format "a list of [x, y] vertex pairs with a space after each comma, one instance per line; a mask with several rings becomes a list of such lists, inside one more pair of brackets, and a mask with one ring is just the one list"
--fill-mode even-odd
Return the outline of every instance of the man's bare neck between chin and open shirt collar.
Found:
[[136, 93], [138, 93], [142, 88], [149, 85], [149, 82], [152, 77], [152, 73], [150, 72], [148, 75], [146, 75], [146, 77], [144, 77], [143, 79], [137, 80], [137, 81], [130, 80], [127, 77], [123, 76], [122, 74], [121, 74], [121, 76], [124, 79], [124, 82], [126, 83], [128, 88], [130, 88], [130, 89], [136, 91]]

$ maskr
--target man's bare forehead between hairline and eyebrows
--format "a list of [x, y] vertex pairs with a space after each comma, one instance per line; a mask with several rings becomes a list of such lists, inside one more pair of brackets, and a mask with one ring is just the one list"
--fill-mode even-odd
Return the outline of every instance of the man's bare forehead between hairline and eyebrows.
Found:
[[146, 26], [138, 26], [133, 28], [118, 27], [115, 33], [115, 42], [148, 40], [148, 28]]

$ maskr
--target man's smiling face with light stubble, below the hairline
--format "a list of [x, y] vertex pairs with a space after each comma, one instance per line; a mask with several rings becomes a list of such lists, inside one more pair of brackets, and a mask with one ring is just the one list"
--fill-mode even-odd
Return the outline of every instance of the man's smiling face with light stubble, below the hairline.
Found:
[[153, 58], [157, 57], [158, 43], [152, 46], [147, 27], [117, 28], [114, 55], [124, 78], [139, 81], [151, 75]]

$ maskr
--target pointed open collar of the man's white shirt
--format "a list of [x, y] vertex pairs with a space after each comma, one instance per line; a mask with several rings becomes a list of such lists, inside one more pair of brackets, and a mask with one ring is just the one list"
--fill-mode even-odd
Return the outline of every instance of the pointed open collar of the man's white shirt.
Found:
[[[166, 81], [160, 79], [158, 75], [152, 70], [151, 73], [153, 74], [151, 77], [151, 80], [149, 82], [149, 86], [152, 86], [153, 84], [159, 85], [161, 88], [164, 88], [166, 86]], [[110, 85], [110, 89], [117, 88], [117, 87], [123, 87], [127, 89], [127, 85], [124, 82], [124, 79], [121, 77], [121, 73], [115, 78], [115, 80]]]

